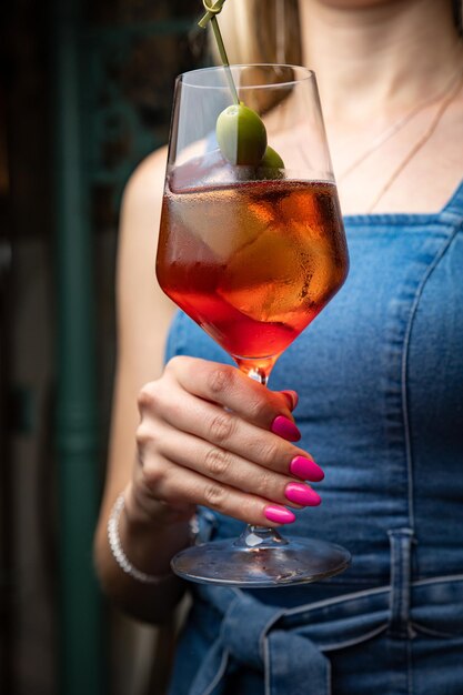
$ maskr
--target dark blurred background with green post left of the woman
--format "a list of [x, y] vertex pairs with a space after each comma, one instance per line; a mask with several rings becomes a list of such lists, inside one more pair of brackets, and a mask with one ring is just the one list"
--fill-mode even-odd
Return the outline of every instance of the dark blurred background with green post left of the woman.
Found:
[[[191, 0], [14, 0], [0, 28], [0, 693], [158, 695], [93, 578], [121, 193], [210, 63]], [[168, 644], [168, 642], [165, 642]], [[162, 659], [161, 654], [161, 659]]]

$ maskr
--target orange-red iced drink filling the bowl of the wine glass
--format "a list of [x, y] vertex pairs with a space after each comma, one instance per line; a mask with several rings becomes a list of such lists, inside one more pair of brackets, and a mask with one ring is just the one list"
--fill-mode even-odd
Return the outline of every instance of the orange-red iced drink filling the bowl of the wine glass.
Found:
[[168, 180], [159, 283], [239, 363], [273, 363], [345, 280], [340, 220], [331, 183]]

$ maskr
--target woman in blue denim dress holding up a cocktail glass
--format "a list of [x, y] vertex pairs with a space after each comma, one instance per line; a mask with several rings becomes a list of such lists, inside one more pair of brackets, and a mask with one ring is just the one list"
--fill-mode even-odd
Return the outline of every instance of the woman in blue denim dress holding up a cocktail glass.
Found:
[[[250, 0], [228, 6], [230, 20]], [[262, 28], [265, 12], [256, 6]], [[450, 0], [299, 3], [292, 27], [301, 29], [300, 60], [318, 74], [351, 274], [280, 359], [273, 391], [221, 364], [223, 354], [183, 315], [170, 329], [168, 356], [178, 356], [163, 367], [173, 308], [154, 286], [153, 258], [165, 153], [143, 162], [128, 185], [114, 415], [95, 553], [108, 594], [144, 621], [162, 622], [185, 591], [192, 594], [172, 695], [255, 695], [264, 683], [276, 695], [463, 693], [456, 9]], [[248, 14], [234, 26], [249, 28]], [[295, 354], [310, 354], [310, 362], [294, 367]], [[284, 392], [295, 385], [296, 409], [295, 394]], [[288, 436], [293, 410], [298, 444]], [[285, 431], [274, 425], [279, 416]], [[259, 452], [250, 454], [255, 441]], [[213, 511], [217, 537], [235, 535], [238, 522], [268, 524], [269, 501], [300, 508], [285, 490], [301, 477], [320, 481], [309, 451], [325, 472], [314, 485], [323, 503], [308, 493], [312, 508], [298, 525], [351, 550], [344, 574], [302, 588], [233, 595], [185, 586], [170, 574], [170, 558], [189, 544], [195, 505]], [[211, 465], [217, 452], [222, 463]], [[296, 456], [304, 467], [299, 476], [290, 469]], [[250, 464], [243, 492], [236, 480]], [[108, 544], [108, 518], [121, 492], [118, 532], [131, 574]], [[279, 621], [278, 606], [301, 605], [292, 622]]]

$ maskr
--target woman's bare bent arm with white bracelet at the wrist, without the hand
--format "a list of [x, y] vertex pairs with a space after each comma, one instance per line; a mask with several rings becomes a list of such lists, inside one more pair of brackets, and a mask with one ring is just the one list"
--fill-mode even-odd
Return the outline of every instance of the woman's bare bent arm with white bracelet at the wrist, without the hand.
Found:
[[[144, 383], [161, 374], [164, 339], [173, 313], [173, 305], [159, 289], [154, 275], [165, 155], [161, 150], [138, 168], [122, 203], [117, 271], [118, 362], [107, 480], [94, 543], [97, 571], [105, 592], [121, 607], [152, 622], [162, 621], [169, 614], [181, 597], [183, 586], [175, 577], [154, 587], [124, 575], [109, 550], [107, 524], [117, 496], [125, 491], [128, 506], [119, 524], [122, 545], [132, 548], [129, 556], [135, 565], [133, 548], [140, 551], [139, 564], [147, 573], [167, 574], [168, 558], [158, 566], [161, 558], [157, 546], [168, 538], [158, 538], [155, 528], [151, 528], [152, 524], [145, 523], [142, 515], [132, 514], [132, 523], [129, 523], [131, 496], [127, 494], [135, 462], [135, 431], [140, 421], [138, 393]], [[172, 545], [173, 552], [187, 544], [184, 522], [170, 533], [173, 541], [168, 545]]]

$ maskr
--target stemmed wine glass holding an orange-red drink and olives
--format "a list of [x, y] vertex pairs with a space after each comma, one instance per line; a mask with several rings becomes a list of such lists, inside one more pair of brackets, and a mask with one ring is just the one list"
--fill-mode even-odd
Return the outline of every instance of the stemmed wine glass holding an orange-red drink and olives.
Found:
[[[238, 127], [243, 104], [251, 124], [246, 111]], [[256, 64], [180, 75], [157, 256], [163, 291], [266, 384], [348, 268], [314, 73]], [[194, 582], [263, 587], [313, 582], [349, 563], [339, 545], [248, 526], [238, 540], [180, 552], [172, 568]]]

